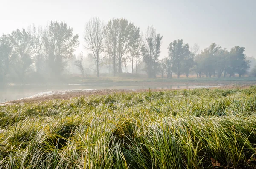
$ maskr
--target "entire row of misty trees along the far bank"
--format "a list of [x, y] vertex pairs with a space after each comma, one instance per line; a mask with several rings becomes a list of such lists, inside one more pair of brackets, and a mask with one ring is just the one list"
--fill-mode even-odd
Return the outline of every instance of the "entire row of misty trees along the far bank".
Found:
[[[0, 82], [10, 78], [19, 78], [24, 82], [26, 74], [36, 76], [60, 76], [67, 67], [67, 62], [74, 57], [73, 52], [79, 46], [78, 34], [65, 22], [51, 21], [45, 29], [42, 26], [29, 26], [17, 29], [0, 37]], [[212, 43], [200, 51], [198, 45], [189, 46], [182, 39], [174, 40], [168, 46], [168, 54], [160, 59], [163, 35], [148, 26], [145, 35], [133, 22], [125, 18], [112, 18], [104, 23], [99, 18], [92, 18], [84, 27], [85, 49], [95, 63], [97, 77], [105, 60], [111, 65], [112, 73], [121, 74], [127, 62], [131, 62], [132, 73], [138, 72], [138, 65], [149, 78], [172, 78], [196, 73], [200, 78], [226, 77], [247, 73], [250, 62], [244, 54], [244, 47], [235, 46], [230, 51]], [[76, 66], [84, 74], [81, 60]]]

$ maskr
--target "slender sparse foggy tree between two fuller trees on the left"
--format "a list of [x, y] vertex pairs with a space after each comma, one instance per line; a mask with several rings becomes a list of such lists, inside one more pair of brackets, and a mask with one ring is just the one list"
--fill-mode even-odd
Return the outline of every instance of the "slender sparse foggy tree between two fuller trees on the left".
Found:
[[32, 53], [34, 54], [35, 57], [35, 69], [36, 72], [40, 73], [42, 72], [42, 67], [44, 66], [45, 63], [45, 58], [44, 58], [44, 40], [43, 40], [43, 35], [44, 35], [44, 30], [42, 29], [42, 26], [29, 26], [28, 30], [29, 34], [31, 35], [31, 46], [32, 46]]

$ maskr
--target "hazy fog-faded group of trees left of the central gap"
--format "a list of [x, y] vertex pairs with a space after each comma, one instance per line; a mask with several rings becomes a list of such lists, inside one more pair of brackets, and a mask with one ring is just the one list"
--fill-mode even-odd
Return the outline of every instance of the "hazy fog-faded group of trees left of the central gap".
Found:
[[78, 34], [64, 22], [52, 21], [46, 29], [30, 26], [0, 37], [0, 82], [20, 79], [31, 72], [57, 77], [79, 46]]

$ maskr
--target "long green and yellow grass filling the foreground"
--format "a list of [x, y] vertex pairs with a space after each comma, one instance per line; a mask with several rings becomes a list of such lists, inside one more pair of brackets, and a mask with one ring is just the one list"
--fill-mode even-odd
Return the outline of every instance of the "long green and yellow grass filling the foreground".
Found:
[[0, 169], [256, 167], [256, 86], [0, 106]]

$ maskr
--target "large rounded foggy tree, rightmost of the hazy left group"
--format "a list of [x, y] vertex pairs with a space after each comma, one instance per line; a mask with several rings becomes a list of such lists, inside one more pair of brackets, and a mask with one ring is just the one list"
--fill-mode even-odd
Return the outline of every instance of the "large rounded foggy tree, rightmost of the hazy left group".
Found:
[[59, 75], [64, 70], [67, 59], [79, 46], [78, 34], [73, 36], [73, 28], [67, 27], [65, 22], [51, 21], [43, 40], [48, 66], [55, 75]]

